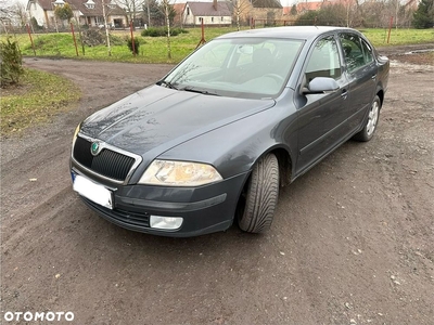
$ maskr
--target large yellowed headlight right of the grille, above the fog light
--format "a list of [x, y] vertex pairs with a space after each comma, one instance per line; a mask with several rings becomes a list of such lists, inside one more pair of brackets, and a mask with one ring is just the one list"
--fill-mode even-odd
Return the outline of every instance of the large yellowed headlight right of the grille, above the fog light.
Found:
[[154, 160], [139, 183], [166, 186], [199, 186], [221, 181], [210, 165], [189, 161]]

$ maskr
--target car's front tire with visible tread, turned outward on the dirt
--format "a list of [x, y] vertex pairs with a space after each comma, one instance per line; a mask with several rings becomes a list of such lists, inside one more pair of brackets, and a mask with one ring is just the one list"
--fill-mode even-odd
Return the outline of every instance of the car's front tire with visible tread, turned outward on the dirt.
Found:
[[279, 197], [279, 162], [273, 154], [261, 158], [252, 171], [239, 226], [248, 233], [263, 233], [272, 222]]

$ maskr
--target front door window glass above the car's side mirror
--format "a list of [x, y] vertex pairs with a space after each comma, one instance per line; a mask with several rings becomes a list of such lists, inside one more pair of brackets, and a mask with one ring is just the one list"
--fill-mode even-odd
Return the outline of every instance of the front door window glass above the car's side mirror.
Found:
[[341, 77], [341, 63], [336, 41], [332, 36], [317, 42], [309, 57], [306, 68], [306, 81], [310, 82], [315, 77]]

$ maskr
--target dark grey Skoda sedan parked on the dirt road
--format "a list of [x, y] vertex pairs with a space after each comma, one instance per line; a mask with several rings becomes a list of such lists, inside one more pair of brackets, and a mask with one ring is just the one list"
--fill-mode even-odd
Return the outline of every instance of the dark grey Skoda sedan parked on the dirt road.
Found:
[[74, 134], [74, 190], [133, 231], [270, 227], [279, 187], [348, 139], [369, 141], [390, 63], [357, 30], [277, 27], [207, 42]]

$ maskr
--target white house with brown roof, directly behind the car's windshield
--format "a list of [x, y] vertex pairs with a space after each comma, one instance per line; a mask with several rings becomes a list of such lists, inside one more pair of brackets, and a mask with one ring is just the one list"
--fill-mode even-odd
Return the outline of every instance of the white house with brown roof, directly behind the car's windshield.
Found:
[[184, 25], [228, 26], [232, 24], [232, 13], [227, 2], [187, 2], [182, 12]]

